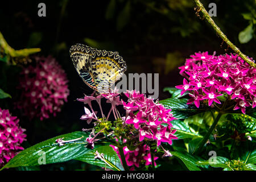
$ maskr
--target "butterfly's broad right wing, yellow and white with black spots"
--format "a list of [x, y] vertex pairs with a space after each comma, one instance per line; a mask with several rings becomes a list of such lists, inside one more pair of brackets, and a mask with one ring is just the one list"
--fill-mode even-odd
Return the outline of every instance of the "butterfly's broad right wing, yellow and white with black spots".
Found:
[[89, 72], [98, 92], [105, 93], [126, 71], [126, 63], [118, 52], [98, 51], [90, 60]]

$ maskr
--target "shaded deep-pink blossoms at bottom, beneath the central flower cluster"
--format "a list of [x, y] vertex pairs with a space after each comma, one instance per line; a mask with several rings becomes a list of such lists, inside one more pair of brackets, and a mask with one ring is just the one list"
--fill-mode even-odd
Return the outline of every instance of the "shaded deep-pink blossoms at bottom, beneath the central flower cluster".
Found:
[[[115, 147], [113, 145], [110, 145], [115, 152], [117, 152], [117, 155], [119, 156], [121, 160], [121, 156], [119, 154], [118, 147]], [[125, 160], [127, 163], [127, 166], [131, 167], [130, 170], [133, 171], [134, 167], [139, 167], [142, 162], [145, 162], [145, 166], [151, 165], [151, 155], [150, 155], [150, 147], [144, 145], [140, 145], [135, 150], [130, 151], [127, 147], [123, 147], [123, 154], [125, 154]], [[154, 161], [158, 159], [158, 157], [154, 156]], [[154, 162], [155, 166], [156, 163]]]

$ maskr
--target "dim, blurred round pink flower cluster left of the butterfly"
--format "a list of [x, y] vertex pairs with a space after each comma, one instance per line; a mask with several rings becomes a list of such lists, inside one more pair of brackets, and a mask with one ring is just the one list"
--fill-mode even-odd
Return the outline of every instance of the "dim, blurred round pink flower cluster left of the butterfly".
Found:
[[67, 102], [69, 89], [67, 76], [55, 58], [35, 57], [36, 65], [23, 68], [20, 74], [22, 90], [20, 101], [16, 104], [30, 119], [41, 120], [56, 115], [64, 101]]

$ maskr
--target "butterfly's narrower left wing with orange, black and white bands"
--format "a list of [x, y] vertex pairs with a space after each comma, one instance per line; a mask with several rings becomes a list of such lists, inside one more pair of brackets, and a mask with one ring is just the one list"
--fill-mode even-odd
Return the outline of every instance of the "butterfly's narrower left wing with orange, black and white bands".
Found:
[[90, 86], [90, 88], [97, 90], [92, 75], [88, 72], [93, 52], [89, 51], [88, 48], [82, 44], [76, 44], [71, 47], [69, 53], [77, 73], [79, 73], [85, 84]]

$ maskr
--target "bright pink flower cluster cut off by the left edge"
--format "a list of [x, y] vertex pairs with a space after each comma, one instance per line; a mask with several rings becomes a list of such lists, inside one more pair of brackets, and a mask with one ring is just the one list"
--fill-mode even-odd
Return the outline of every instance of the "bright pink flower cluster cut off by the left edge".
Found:
[[12, 159], [19, 150], [20, 144], [26, 140], [25, 129], [18, 125], [19, 119], [10, 115], [9, 110], [0, 108], [0, 168]]

